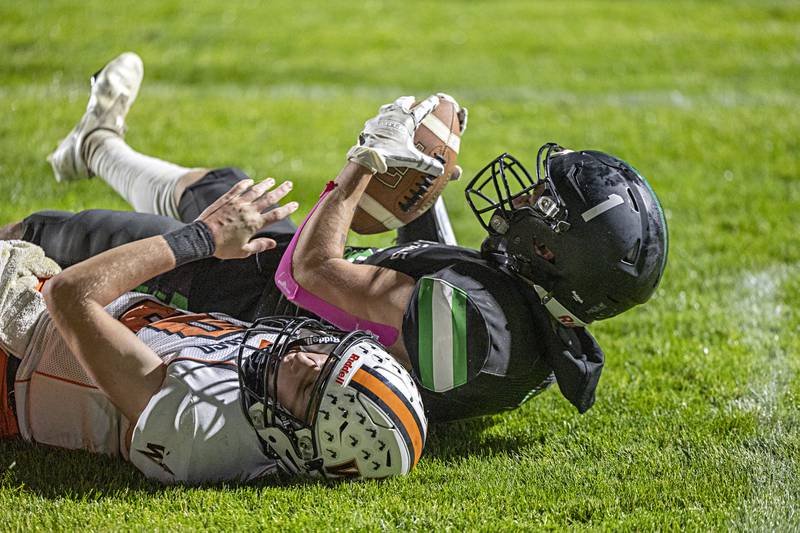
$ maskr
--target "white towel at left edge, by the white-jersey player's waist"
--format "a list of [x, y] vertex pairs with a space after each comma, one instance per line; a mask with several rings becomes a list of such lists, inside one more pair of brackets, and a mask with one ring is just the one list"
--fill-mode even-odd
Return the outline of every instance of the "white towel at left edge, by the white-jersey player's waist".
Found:
[[25, 354], [33, 326], [45, 311], [37, 278], [59, 272], [61, 268], [35, 244], [0, 241], [0, 345], [14, 355]]

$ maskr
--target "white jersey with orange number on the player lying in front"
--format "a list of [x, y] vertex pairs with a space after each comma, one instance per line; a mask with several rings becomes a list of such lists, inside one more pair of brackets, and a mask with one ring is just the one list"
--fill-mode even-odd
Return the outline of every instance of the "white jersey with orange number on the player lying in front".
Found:
[[[22, 436], [61, 448], [121, 454], [163, 482], [246, 481], [275, 470], [242, 413], [236, 356], [247, 323], [189, 314], [128, 293], [107, 311], [167, 364], [159, 390], [133, 428], [97, 388], [47, 314], [17, 372]], [[272, 341], [261, 334], [251, 346]], [[252, 343], [251, 343], [252, 341]]]

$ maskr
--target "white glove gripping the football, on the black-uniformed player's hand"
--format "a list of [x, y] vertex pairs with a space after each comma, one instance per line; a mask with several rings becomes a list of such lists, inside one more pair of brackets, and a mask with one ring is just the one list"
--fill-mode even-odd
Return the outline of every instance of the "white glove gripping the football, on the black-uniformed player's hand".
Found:
[[364, 124], [358, 144], [347, 152], [347, 159], [379, 174], [390, 167], [412, 168], [433, 176], [444, 174], [440, 161], [414, 146], [414, 133], [439, 105], [439, 97], [429, 96], [411, 109], [414, 101], [413, 96], [401, 96], [382, 106], [378, 115]]

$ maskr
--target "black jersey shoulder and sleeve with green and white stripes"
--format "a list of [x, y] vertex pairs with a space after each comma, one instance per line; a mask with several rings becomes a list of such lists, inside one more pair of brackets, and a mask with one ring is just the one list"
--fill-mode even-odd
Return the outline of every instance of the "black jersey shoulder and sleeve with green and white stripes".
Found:
[[[548, 319], [531, 312], [518, 283], [485, 264], [458, 263], [419, 279], [403, 340], [430, 420], [495, 414], [546, 388], [545, 328]], [[458, 369], [452, 379], [451, 368]]]

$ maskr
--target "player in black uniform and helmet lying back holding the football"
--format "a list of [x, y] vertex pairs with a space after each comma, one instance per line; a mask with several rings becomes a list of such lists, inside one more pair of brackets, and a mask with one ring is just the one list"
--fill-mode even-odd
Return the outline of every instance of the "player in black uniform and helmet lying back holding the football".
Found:
[[[113, 105], [105, 109], [90, 101], [87, 115], [107, 125], [93, 130], [97, 133], [85, 131], [91, 123], [85, 116], [51, 162], [59, 179], [96, 173], [112, 182], [106, 174], [122, 174], [129, 181], [115, 188], [132, 205], [173, 218], [43, 212], [11, 228], [7, 238], [16, 234], [39, 244], [66, 266], [191, 222], [243, 177], [230, 168], [172, 168], [124, 145], [120, 125], [140, 81], [141, 75], [129, 84], [135, 90], [127, 91], [124, 105], [118, 97], [106, 98]], [[296, 239], [289, 266], [297, 285], [356, 322], [385, 326], [389, 350], [423, 386], [431, 421], [512, 409], [554, 381], [586, 411], [595, 399], [604, 355], [585, 326], [645, 302], [666, 264], [667, 228], [654, 192], [620, 159], [547, 144], [539, 150], [535, 178], [504, 154], [469, 184], [470, 205], [488, 232], [481, 250], [435, 242], [432, 215], [412, 223], [422, 232], [406, 228], [398, 246], [347, 248], [353, 209], [375, 171], [416, 166], [441, 173], [438, 162], [413, 149], [410, 140], [421, 116], [403, 105], [407, 101], [384, 106], [367, 123], [335, 187]], [[173, 203], [137, 199], [130, 192], [137, 172], [144, 176], [141, 188], [158, 185], [148, 174], [174, 177], [167, 180], [175, 183], [167, 188]], [[159, 211], [161, 205], [167, 207]], [[278, 242], [275, 250], [186, 265], [142, 290], [192, 311], [213, 309], [243, 320], [308, 313], [284, 297], [273, 278], [293, 231], [286, 224], [264, 228], [262, 234]]]

